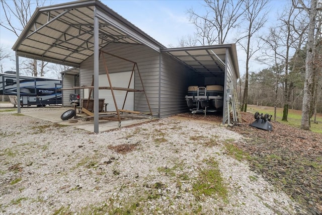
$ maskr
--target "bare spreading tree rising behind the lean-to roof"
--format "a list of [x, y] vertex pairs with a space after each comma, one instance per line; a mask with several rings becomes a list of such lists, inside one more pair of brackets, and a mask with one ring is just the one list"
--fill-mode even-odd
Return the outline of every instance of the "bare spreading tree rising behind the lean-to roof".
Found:
[[230, 31], [241, 22], [244, 0], [204, 0], [206, 14], [188, 11], [190, 21], [196, 27], [196, 38], [201, 45], [223, 44]]

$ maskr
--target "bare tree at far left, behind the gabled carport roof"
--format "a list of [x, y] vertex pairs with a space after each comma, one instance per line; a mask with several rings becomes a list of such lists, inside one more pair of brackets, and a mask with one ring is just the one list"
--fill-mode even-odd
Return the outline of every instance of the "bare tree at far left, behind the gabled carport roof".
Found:
[[[0, 25], [19, 37], [31, 18], [32, 11], [36, 7], [44, 6], [44, 3], [45, 0], [1, 0], [4, 19], [1, 19]], [[18, 25], [16, 25], [17, 21], [19, 23]], [[32, 75], [35, 77], [38, 76], [36, 59], [33, 60], [31, 68], [33, 70]], [[43, 68], [41, 68], [41, 70], [43, 70]]]

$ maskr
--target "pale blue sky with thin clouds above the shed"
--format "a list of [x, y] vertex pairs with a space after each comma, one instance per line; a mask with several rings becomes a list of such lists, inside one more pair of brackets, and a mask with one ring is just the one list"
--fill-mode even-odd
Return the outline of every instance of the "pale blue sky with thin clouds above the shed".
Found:
[[[50, 1], [48, 1], [48, 4]], [[51, 5], [69, 2], [65, 0], [53, 0]], [[179, 40], [183, 36], [193, 35], [194, 26], [189, 22], [187, 10], [193, 8], [196, 11], [204, 11], [202, 7], [203, 1], [101, 1], [109, 8], [113, 9], [116, 13], [127, 19], [129, 22], [140, 28], [142, 31], [150, 35], [152, 38], [169, 47], [170, 45], [178, 46]], [[270, 1], [269, 8], [271, 15], [269, 22], [266, 24], [266, 29], [274, 25], [277, 16], [277, 11], [283, 8], [287, 0], [272, 0]], [[0, 3], [1, 4], [1, 3]], [[0, 18], [4, 19], [4, 13], [0, 11]], [[264, 31], [264, 30], [263, 30]], [[3, 27], [0, 27], [0, 42], [3, 48], [14, 52], [12, 46], [17, 40], [17, 36]], [[227, 43], [234, 43], [234, 41], [227, 41]], [[239, 71], [242, 76], [245, 73], [245, 54], [237, 50]], [[13, 70], [15, 62], [6, 60], [4, 64], [4, 71]], [[251, 64], [251, 71], [258, 71], [267, 66], [259, 65], [256, 62]], [[14, 69], [15, 70], [15, 69]]]

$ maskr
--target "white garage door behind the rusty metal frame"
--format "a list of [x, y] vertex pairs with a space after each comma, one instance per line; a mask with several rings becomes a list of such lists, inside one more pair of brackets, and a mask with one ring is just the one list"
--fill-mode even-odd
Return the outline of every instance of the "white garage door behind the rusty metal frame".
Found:
[[[112, 73], [109, 75], [113, 87], [128, 87], [131, 77], [131, 71], [125, 71], [122, 73]], [[99, 75], [99, 87], [110, 87], [106, 74]], [[132, 77], [130, 88], [134, 88], [134, 76]], [[113, 90], [113, 92], [118, 109], [122, 109], [126, 91]], [[88, 95], [89, 92], [85, 90], [84, 98], [88, 98]], [[105, 103], [108, 103], [107, 111], [116, 111], [111, 90], [99, 90], [99, 98], [105, 99]], [[127, 93], [124, 109], [134, 110], [134, 92]]]

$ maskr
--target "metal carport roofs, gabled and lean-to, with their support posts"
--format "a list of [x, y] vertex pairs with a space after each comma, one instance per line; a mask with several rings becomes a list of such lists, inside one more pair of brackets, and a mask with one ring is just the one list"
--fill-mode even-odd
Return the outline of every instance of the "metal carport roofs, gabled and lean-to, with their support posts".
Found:
[[[167, 49], [101, 2], [82, 0], [36, 9], [13, 46], [17, 79], [19, 56], [77, 68], [94, 55], [94, 131], [98, 132], [99, 50], [110, 43], [144, 45], [158, 53], [166, 51], [197, 73], [215, 76], [232, 71], [239, 78], [234, 44]], [[17, 91], [19, 98], [19, 86]]]

